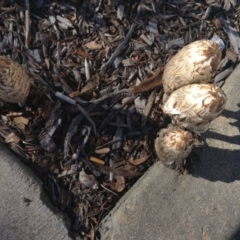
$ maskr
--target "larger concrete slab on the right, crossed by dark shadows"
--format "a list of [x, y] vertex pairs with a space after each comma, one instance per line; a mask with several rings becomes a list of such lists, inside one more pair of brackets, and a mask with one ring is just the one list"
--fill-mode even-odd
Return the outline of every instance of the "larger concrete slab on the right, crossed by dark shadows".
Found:
[[152, 166], [103, 220], [104, 240], [240, 239], [240, 65], [226, 110], [203, 135], [189, 175]]

